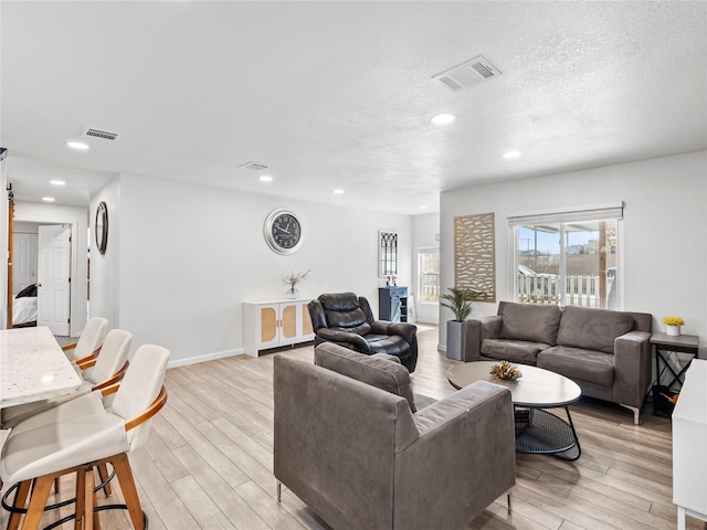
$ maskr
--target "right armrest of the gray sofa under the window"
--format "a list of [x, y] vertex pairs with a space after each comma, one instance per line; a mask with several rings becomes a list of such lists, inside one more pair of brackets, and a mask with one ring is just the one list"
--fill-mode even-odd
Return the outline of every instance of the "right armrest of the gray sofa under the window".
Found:
[[613, 400], [637, 406], [648, 391], [652, 379], [651, 333], [629, 331], [614, 340]]

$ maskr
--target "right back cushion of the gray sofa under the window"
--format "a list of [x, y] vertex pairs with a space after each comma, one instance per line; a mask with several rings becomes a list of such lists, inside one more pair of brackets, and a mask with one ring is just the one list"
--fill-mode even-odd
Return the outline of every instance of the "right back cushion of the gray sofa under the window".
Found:
[[558, 346], [614, 352], [614, 339], [633, 329], [629, 312], [567, 306], [557, 333]]

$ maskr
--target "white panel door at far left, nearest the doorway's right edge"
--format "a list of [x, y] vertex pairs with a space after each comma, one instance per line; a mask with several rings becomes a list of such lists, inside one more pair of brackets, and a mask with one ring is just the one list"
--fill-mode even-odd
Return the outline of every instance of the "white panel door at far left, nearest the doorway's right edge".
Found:
[[40, 226], [36, 325], [68, 335], [71, 309], [71, 226]]

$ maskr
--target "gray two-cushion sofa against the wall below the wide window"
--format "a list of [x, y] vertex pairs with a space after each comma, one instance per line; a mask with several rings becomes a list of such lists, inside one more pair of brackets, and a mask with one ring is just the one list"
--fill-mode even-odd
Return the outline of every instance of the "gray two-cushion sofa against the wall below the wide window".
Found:
[[464, 360], [551, 370], [584, 395], [632, 410], [639, 424], [651, 384], [652, 327], [645, 312], [502, 301], [496, 316], [466, 321]]

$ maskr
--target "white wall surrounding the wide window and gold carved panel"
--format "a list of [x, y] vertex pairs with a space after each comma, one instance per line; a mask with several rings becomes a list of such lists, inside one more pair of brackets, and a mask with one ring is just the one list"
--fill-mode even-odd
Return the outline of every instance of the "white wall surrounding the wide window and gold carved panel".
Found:
[[[623, 309], [685, 319], [683, 332], [707, 347], [707, 151], [608, 166], [587, 171], [444, 192], [441, 198], [442, 287], [454, 280], [453, 219], [495, 212], [497, 300], [513, 299], [509, 230], [513, 213], [624, 201]], [[497, 304], [474, 304], [472, 317]], [[449, 319], [442, 309], [441, 321]], [[444, 326], [440, 343], [445, 343]]]

